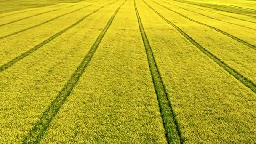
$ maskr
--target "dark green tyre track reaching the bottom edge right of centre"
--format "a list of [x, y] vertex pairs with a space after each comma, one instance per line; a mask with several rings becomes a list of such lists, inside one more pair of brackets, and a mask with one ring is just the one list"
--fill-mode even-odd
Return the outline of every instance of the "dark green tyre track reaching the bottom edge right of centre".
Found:
[[163, 125], [165, 128], [165, 136], [166, 136], [167, 142], [168, 144], [170, 144], [170, 143], [176, 143], [177, 141], [179, 141], [182, 144], [183, 138], [182, 138], [181, 130], [179, 127], [179, 123], [176, 118], [176, 114], [174, 113], [173, 107], [171, 105], [171, 101], [169, 100], [168, 92], [167, 92], [167, 89], [165, 88], [164, 82], [160, 75], [160, 71], [157, 67], [157, 62], [155, 61], [154, 53], [147, 39], [147, 35], [144, 31], [135, 0], [134, 0], [134, 7], [135, 7], [138, 23], [139, 23], [141, 37], [142, 37], [146, 54], [147, 54], [150, 73], [155, 86], [155, 92], [157, 95], [157, 101], [159, 104], [160, 113], [161, 113]]

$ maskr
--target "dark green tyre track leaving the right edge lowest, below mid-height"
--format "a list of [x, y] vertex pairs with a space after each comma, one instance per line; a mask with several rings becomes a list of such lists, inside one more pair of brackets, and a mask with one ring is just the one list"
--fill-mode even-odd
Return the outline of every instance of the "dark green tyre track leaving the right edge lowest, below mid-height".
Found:
[[[144, 1], [144, 0], [143, 0]], [[153, 11], [155, 11], [154, 8], [152, 8], [150, 5], [148, 5], [145, 1], [144, 3], [151, 8]], [[187, 35], [184, 31], [182, 31], [179, 27], [177, 27], [175, 24], [173, 24], [171, 21], [168, 21], [164, 16], [162, 16], [160, 13], [155, 11], [158, 16], [160, 16], [163, 20], [165, 20], [168, 24], [173, 26], [181, 35], [183, 35], [190, 43], [195, 45], [200, 51], [202, 51], [206, 56], [208, 56], [210, 59], [212, 59], [216, 64], [218, 64], [220, 67], [222, 67], [224, 70], [226, 70], [230, 75], [234, 76], [238, 81], [243, 83], [247, 88], [251, 89], [254, 93], [256, 93], [256, 84], [253, 83], [251, 80], [248, 80], [246, 77], [241, 75], [239, 72], [237, 72], [232, 67], [229, 67], [224, 61], [221, 61], [217, 56], [213, 55], [210, 51], [208, 51], [206, 48], [201, 46], [199, 43], [197, 43], [192, 37]]]

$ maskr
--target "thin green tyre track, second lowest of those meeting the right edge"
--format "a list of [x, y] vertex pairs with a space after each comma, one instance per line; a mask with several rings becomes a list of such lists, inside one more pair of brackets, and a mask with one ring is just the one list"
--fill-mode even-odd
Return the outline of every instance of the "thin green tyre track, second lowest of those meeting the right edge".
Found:
[[203, 25], [203, 26], [209, 27], [209, 28], [211, 28], [211, 29], [213, 29], [213, 30], [215, 30], [215, 31], [217, 31], [217, 32], [220, 32], [220, 33], [223, 34], [223, 35], [226, 35], [226, 36], [232, 38], [233, 40], [235, 40], [235, 41], [237, 41], [237, 42], [239, 42], [239, 43], [242, 43], [243, 45], [246, 45], [246, 46], [248, 46], [248, 47], [250, 47], [250, 48], [256, 50], [256, 46], [255, 46], [255, 45], [252, 45], [252, 44], [250, 44], [250, 43], [248, 43], [248, 42], [246, 42], [246, 41], [244, 41], [244, 40], [242, 40], [242, 39], [240, 39], [240, 38], [238, 38], [238, 37], [235, 37], [235, 36], [233, 36], [233, 35], [230, 35], [229, 33], [224, 32], [224, 31], [222, 31], [222, 30], [220, 30], [220, 29], [218, 29], [218, 28], [216, 28], [216, 27], [212, 27], [212, 26], [210, 26], [210, 25], [208, 25], [208, 24], [204, 24], [204, 23], [202, 23], [202, 22], [199, 22], [199, 21], [196, 21], [196, 20], [194, 20], [194, 19], [191, 19], [191, 18], [189, 18], [189, 17], [187, 17], [187, 16], [184, 16], [183, 14], [178, 13], [178, 12], [176, 12], [176, 11], [173, 11], [173, 10], [171, 10], [170, 8], [167, 8], [166, 6], [161, 5], [161, 4], [157, 3], [157, 2], [155, 2], [154, 0], [152, 0], [152, 1], [153, 1], [154, 3], [156, 3], [157, 5], [160, 5], [160, 6], [164, 7], [164, 8], [166, 8], [166, 9], [168, 9], [169, 11], [172, 11], [172, 12], [174, 12], [174, 13], [177, 13], [177, 14], [179, 14], [180, 16], [182, 16], [182, 17], [184, 17], [184, 18], [186, 18], [186, 19], [188, 19], [188, 20], [190, 20], [190, 21], [193, 21], [193, 22], [195, 22], [195, 23], [197, 23], [197, 24], [201, 24], [201, 25]]

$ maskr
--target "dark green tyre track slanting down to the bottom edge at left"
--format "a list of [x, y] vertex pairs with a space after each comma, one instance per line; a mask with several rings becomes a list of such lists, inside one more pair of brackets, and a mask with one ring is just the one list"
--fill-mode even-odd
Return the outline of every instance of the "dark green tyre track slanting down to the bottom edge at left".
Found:
[[[125, 0], [125, 2], [126, 2], [126, 0]], [[77, 67], [77, 70], [72, 74], [69, 81], [65, 84], [65, 86], [59, 92], [59, 95], [56, 96], [56, 98], [51, 103], [51, 105], [45, 110], [45, 112], [43, 112], [43, 115], [40, 117], [40, 120], [37, 123], [35, 123], [35, 125], [31, 129], [31, 131], [28, 133], [28, 135], [23, 140], [23, 142], [22, 142], [23, 144], [39, 143], [40, 142], [40, 139], [42, 138], [45, 131], [49, 127], [51, 121], [57, 115], [57, 113], [59, 112], [59, 109], [65, 103], [67, 97], [69, 97], [70, 93], [72, 93], [72, 91], [75, 88], [75, 85], [77, 84], [81, 75], [85, 72], [85, 69], [88, 66], [89, 62], [91, 61], [93, 54], [95, 53], [99, 44], [101, 43], [102, 38], [104, 37], [104, 35], [107, 32], [110, 25], [112, 24], [112, 21], [115, 18], [115, 15], [117, 14], [117, 12], [121, 8], [121, 6], [124, 5], [124, 3], [122, 3], [117, 8], [115, 13], [111, 16], [107, 25], [104, 27], [104, 29], [101, 31], [101, 33], [97, 37], [97, 39], [94, 42], [93, 46], [91, 47], [90, 51], [86, 54], [83, 61], [81, 61], [80, 65]]]

